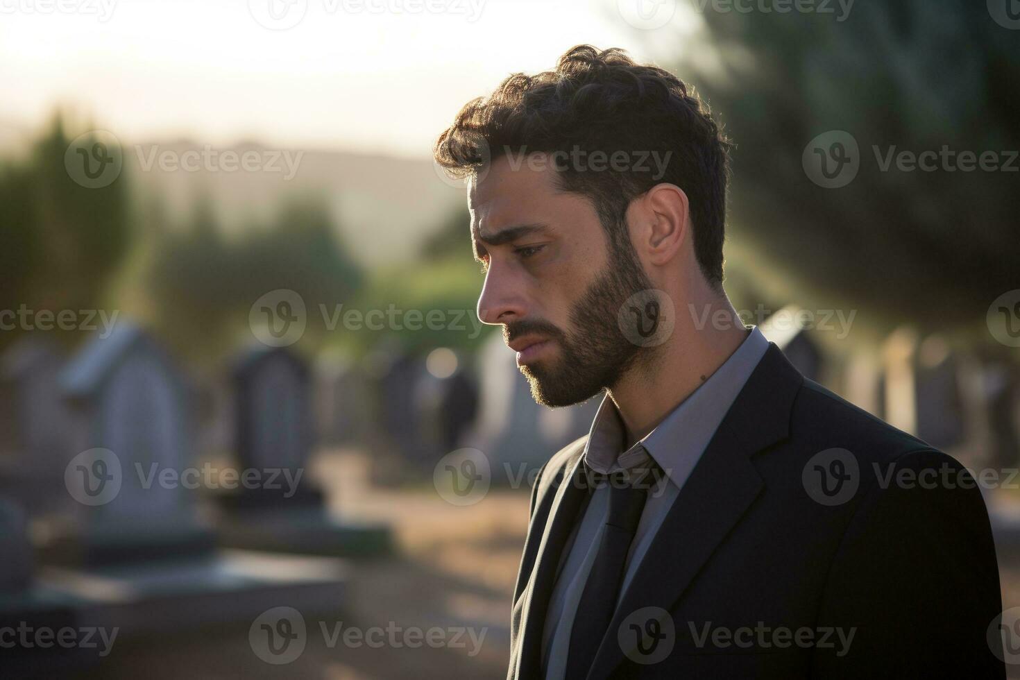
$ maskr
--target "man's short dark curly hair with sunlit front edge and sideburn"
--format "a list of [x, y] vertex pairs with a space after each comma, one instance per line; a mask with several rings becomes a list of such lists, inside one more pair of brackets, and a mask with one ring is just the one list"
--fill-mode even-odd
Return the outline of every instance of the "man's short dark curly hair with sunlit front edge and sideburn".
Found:
[[436, 162], [465, 177], [513, 153], [659, 154], [665, 172], [640, 163], [620, 168], [556, 166], [564, 191], [589, 197], [610, 244], [630, 248], [626, 209], [659, 182], [686, 193], [695, 254], [705, 277], [722, 283], [729, 143], [694, 90], [662, 68], [635, 63], [623, 50], [573, 47], [556, 69], [513, 73], [489, 97], [471, 100], [440, 135]]

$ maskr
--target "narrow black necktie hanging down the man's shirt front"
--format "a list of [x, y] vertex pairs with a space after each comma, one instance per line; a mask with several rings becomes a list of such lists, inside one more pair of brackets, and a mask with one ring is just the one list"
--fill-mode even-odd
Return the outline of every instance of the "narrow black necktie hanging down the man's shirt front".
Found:
[[648, 498], [648, 485], [640, 483], [645, 475], [636, 477], [639, 481], [632, 475], [614, 473], [602, 475], [596, 482], [609, 486], [609, 516], [570, 629], [566, 680], [588, 676], [606, 629], [613, 620], [630, 541], [638, 530]]

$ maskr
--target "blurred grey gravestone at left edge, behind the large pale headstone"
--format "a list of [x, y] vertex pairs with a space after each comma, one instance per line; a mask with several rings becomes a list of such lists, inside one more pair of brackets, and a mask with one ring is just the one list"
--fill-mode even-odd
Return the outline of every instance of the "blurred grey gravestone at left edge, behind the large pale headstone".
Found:
[[0, 491], [32, 514], [68, 500], [62, 456], [71, 420], [57, 378], [63, 363], [55, 343], [33, 334], [0, 359]]

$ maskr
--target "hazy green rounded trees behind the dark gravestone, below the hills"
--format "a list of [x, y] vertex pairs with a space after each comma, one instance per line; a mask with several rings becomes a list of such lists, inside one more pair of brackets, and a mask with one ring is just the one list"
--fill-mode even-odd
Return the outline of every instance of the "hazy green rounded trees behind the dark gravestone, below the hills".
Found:
[[290, 289], [308, 315], [305, 345], [325, 331], [320, 305], [332, 309], [359, 287], [362, 273], [337, 237], [327, 211], [293, 201], [267, 225], [226, 238], [209, 201], [200, 201], [184, 229], [157, 233], [146, 287], [162, 334], [192, 358], [230, 353], [264, 294]]

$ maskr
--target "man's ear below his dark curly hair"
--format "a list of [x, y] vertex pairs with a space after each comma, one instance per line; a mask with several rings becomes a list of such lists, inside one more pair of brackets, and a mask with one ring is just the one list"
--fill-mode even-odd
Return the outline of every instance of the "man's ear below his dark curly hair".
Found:
[[669, 264], [690, 239], [691, 214], [687, 195], [676, 185], [661, 184], [631, 204], [634, 247], [642, 259], [654, 266]]

